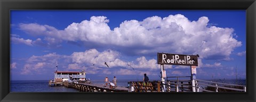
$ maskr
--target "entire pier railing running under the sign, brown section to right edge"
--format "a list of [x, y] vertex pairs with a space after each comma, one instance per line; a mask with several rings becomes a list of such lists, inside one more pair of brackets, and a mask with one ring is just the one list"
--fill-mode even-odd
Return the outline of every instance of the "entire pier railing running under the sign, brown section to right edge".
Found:
[[195, 81], [195, 86], [191, 85], [191, 80], [128, 82], [128, 86], [129, 92], [163, 92], [163, 88], [164, 92], [193, 92], [193, 87], [196, 89], [194, 92], [246, 92], [246, 86], [242, 85], [198, 79]]

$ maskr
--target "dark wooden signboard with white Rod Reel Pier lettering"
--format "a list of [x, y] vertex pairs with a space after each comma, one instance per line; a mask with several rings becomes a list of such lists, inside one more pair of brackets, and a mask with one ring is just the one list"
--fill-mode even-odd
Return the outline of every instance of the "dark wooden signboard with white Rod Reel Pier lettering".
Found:
[[198, 66], [196, 55], [157, 53], [157, 64]]

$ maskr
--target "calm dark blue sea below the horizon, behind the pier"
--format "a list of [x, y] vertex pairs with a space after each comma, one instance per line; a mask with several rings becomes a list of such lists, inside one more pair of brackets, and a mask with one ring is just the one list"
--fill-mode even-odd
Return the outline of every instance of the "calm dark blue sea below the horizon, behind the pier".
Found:
[[[10, 92], [79, 92], [79, 90], [66, 87], [49, 87], [49, 80], [14, 80], [10, 84]], [[117, 80], [117, 86], [127, 87], [127, 82], [137, 80]], [[140, 81], [140, 80], [139, 80]], [[214, 82], [231, 83], [231, 84], [246, 84], [246, 80], [208, 80]], [[105, 84], [104, 80], [92, 80], [95, 84]]]

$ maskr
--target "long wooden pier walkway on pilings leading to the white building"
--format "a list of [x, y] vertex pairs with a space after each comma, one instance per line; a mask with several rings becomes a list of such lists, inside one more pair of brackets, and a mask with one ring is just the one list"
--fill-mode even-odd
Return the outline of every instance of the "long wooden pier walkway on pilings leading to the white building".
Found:
[[[65, 84], [67, 86], [67, 83]], [[109, 86], [105, 86], [105, 84], [92, 84], [92, 83], [72, 83], [72, 88], [75, 88], [82, 92], [128, 92], [128, 88], [118, 86], [116, 88], [109, 88]]]

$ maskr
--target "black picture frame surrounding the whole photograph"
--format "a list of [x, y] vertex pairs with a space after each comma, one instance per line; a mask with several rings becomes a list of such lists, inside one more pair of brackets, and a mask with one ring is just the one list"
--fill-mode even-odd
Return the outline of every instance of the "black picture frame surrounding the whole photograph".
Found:
[[[255, 0], [0, 0], [1, 101], [255, 101]], [[10, 92], [10, 10], [246, 10], [246, 92]]]

